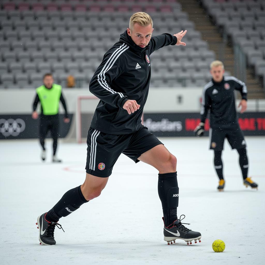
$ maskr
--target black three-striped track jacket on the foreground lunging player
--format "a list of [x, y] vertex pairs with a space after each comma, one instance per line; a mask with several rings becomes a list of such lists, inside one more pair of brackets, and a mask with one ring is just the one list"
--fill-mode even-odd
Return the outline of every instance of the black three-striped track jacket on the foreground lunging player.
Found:
[[[120, 41], [105, 53], [89, 84], [90, 92], [100, 99], [91, 122], [93, 129], [106, 134], [130, 134], [140, 129], [151, 78], [150, 55], [176, 42], [175, 36], [162, 34], [151, 37], [149, 44], [141, 48], [127, 30], [121, 34]], [[128, 99], [141, 106], [130, 115], [122, 109]]]

